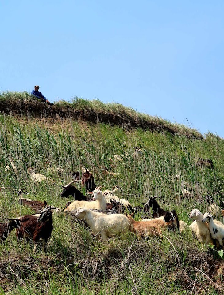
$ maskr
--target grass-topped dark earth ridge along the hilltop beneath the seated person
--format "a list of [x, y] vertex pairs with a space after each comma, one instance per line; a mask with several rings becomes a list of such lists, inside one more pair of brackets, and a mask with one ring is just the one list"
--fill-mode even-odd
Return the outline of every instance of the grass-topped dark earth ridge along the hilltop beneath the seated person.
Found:
[[75, 97], [70, 103], [59, 101], [49, 107], [28, 92], [3, 92], [0, 94], [0, 112], [6, 114], [25, 114], [52, 118], [83, 119], [91, 123], [110, 123], [126, 128], [168, 131], [171, 134], [185, 135], [189, 138], [203, 139], [201, 133], [185, 125], [174, 124], [159, 117], [139, 113], [119, 103], [102, 103], [100, 100], [85, 100]]

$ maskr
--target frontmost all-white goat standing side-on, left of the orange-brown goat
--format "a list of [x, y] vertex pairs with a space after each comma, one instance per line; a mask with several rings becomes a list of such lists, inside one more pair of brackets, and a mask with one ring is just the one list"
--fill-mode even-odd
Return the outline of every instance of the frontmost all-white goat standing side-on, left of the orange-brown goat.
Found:
[[99, 236], [102, 237], [103, 241], [106, 241], [108, 237], [121, 235], [131, 230], [129, 219], [123, 214], [105, 215], [93, 212], [86, 207], [81, 207], [78, 208], [75, 217], [85, 219], [96, 236], [97, 241]]

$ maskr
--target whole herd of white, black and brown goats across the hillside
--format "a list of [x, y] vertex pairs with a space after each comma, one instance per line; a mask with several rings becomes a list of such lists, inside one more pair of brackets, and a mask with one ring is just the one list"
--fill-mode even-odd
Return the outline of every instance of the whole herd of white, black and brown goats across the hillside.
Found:
[[[140, 148], [135, 148], [133, 157], [137, 157], [141, 153]], [[116, 157], [110, 158], [110, 162], [115, 165], [116, 161], [122, 160], [122, 157], [125, 156], [116, 155]], [[213, 168], [211, 160], [203, 161], [204, 165]], [[47, 163], [47, 170], [54, 173], [63, 172], [61, 168], [51, 167], [51, 162]], [[13, 170], [17, 176], [19, 175], [13, 161], [11, 161], [11, 166], [6, 166], [5, 170], [6, 172]], [[31, 168], [28, 168], [28, 173], [35, 182], [53, 181], [43, 174], [35, 173]], [[42, 238], [42, 251], [45, 253], [46, 243], [53, 230], [52, 215], [62, 213], [65, 216], [82, 220], [82, 224], [91, 228], [97, 240], [102, 237], [102, 241], [106, 241], [108, 237], [128, 232], [132, 232], [138, 238], [141, 238], [153, 235], [159, 236], [166, 229], [177, 234], [182, 234], [185, 230], [191, 229], [201, 243], [206, 243], [206, 245], [214, 244], [217, 249], [221, 249], [223, 246], [224, 224], [213, 219], [212, 214], [222, 214], [224, 216], [224, 210], [213, 202], [212, 198], [207, 198], [211, 203], [208, 213], [203, 215], [198, 209], [191, 211], [189, 217], [194, 221], [188, 226], [186, 222], [179, 220], [175, 210], [167, 211], [162, 209], [156, 196], [150, 197], [146, 203], [141, 203], [142, 206], [133, 207], [125, 198], [121, 199], [117, 196], [123, 191], [118, 185], [112, 190], [104, 191], [101, 190], [102, 186], [96, 186], [94, 177], [87, 168], [82, 168], [81, 173], [76, 171], [73, 177], [73, 181], [63, 186], [61, 197], [68, 198], [72, 196], [74, 200], [68, 202], [63, 209], [53, 207], [47, 204], [46, 201], [41, 202], [25, 198], [25, 195], [29, 195], [29, 193], [25, 189], [20, 189], [18, 191], [20, 204], [29, 206], [35, 214], [7, 219], [6, 222], [0, 223], [0, 241], [4, 241], [15, 228], [18, 240], [25, 238], [27, 241], [32, 240], [34, 242], [34, 251], [38, 241]], [[176, 175], [175, 177], [178, 178], [179, 176]], [[81, 182], [81, 185], [85, 187], [87, 196], [75, 187], [74, 184], [77, 182]], [[182, 190], [184, 190], [184, 186]], [[132, 218], [134, 215], [143, 215], [144, 219], [135, 221]]]

